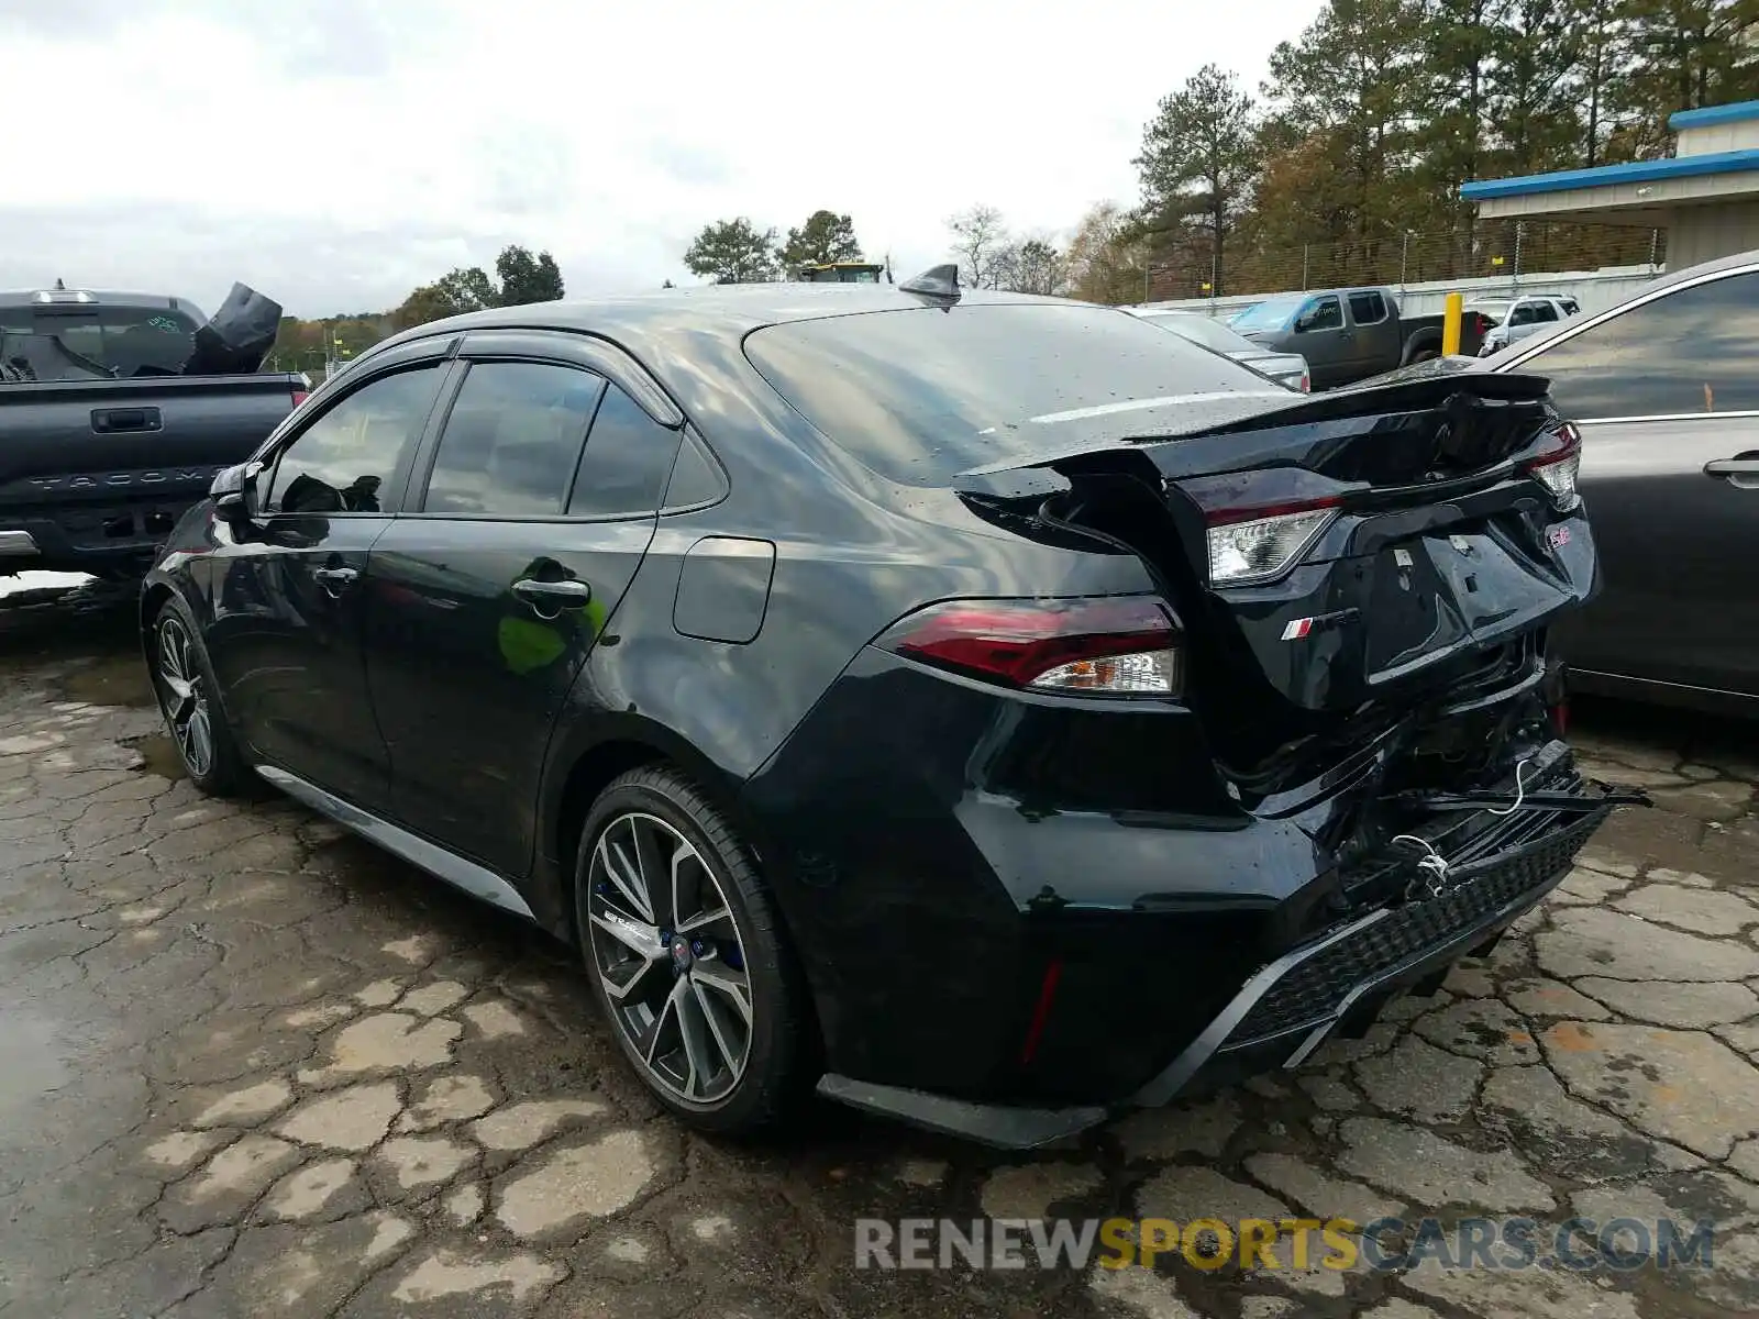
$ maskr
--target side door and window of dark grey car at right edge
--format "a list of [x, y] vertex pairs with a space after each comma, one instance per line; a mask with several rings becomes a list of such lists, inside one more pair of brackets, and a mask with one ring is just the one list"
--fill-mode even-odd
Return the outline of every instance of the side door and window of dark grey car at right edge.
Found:
[[1581, 426], [1604, 591], [1573, 667], [1759, 695], [1759, 267], [1657, 290], [1499, 369]]

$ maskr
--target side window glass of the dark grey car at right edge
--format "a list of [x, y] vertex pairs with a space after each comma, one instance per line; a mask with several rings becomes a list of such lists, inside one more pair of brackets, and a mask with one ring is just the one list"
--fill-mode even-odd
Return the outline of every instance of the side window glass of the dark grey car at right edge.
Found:
[[1759, 410], [1759, 273], [1731, 274], [1602, 320], [1527, 359], [1566, 417]]

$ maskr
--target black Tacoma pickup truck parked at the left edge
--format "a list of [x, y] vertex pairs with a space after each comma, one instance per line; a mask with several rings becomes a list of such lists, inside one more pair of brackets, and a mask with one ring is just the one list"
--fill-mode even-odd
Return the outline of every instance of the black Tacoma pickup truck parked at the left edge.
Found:
[[[229, 310], [253, 322], [243, 339]], [[211, 322], [178, 297], [0, 294], [0, 575], [144, 573], [215, 473], [310, 389], [257, 371], [271, 310], [243, 287]]]

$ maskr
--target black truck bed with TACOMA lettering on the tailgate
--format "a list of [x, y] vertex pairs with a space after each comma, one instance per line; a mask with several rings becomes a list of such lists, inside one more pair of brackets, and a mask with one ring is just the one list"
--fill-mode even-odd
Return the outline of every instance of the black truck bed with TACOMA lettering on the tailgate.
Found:
[[144, 570], [306, 387], [283, 373], [0, 383], [0, 573]]

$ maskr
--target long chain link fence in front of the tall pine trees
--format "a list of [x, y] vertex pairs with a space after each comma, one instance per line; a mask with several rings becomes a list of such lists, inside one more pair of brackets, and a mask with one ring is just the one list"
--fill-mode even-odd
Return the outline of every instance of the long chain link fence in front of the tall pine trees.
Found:
[[1668, 232], [1632, 225], [1485, 220], [1449, 234], [1391, 234], [1298, 248], [1223, 251], [1207, 244], [1163, 255], [1143, 276], [1142, 301], [1238, 297], [1354, 285], [1405, 285], [1434, 280], [1648, 267], [1668, 260]]

